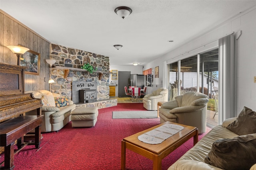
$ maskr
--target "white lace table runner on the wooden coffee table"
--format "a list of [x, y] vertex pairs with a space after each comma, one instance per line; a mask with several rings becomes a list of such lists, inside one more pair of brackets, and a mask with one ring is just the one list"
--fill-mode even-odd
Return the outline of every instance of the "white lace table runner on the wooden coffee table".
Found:
[[138, 136], [138, 139], [148, 144], [159, 144], [182, 129], [184, 127], [180, 125], [166, 124]]

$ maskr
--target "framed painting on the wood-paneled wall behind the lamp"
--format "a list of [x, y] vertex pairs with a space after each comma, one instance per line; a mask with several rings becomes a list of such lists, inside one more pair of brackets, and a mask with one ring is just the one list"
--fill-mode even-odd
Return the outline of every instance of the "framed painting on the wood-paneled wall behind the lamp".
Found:
[[20, 56], [20, 65], [25, 66], [25, 74], [39, 75], [40, 54], [32, 50], [26, 51]]

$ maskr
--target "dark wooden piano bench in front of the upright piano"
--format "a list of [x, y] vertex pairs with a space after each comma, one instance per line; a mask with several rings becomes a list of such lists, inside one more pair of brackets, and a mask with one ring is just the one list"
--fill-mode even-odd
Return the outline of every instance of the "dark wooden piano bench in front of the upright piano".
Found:
[[[40, 126], [43, 117], [44, 115], [18, 116], [0, 124], [0, 146], [4, 147], [4, 167], [1, 169], [14, 169], [14, 154], [19, 152], [23, 148], [22, 146], [27, 145], [24, 143], [24, 135], [34, 128], [36, 129], [34, 145], [37, 149], [40, 147]], [[16, 140], [18, 140], [18, 150], [14, 153]]]

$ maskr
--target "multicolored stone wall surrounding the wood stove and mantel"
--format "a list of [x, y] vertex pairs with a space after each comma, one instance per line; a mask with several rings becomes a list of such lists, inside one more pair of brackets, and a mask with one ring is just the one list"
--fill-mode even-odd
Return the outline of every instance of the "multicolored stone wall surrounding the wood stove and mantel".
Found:
[[69, 70], [68, 75], [65, 77], [65, 68], [54, 68], [54, 66], [65, 66], [68, 64], [72, 68], [81, 68], [84, 63], [90, 63], [97, 71], [109, 72], [109, 57], [64, 47], [62, 45], [51, 44], [50, 58], [56, 60], [52, 68], [52, 92], [67, 96], [72, 99], [72, 82], [89, 81], [97, 82], [97, 98], [98, 100], [109, 99], [109, 76], [108, 73], [103, 73], [102, 78], [99, 80], [99, 73], [89, 73], [87, 71]]

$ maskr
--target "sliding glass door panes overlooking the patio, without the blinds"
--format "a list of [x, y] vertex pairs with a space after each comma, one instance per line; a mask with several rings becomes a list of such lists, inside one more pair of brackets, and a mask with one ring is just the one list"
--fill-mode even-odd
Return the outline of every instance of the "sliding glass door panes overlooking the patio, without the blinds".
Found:
[[169, 64], [169, 100], [187, 92], [209, 96], [207, 123], [218, 125], [218, 49]]

